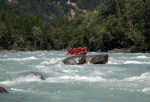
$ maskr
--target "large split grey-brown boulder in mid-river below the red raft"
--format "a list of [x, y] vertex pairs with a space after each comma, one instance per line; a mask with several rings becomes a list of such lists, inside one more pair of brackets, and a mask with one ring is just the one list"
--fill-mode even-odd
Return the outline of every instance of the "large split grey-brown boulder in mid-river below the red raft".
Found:
[[66, 65], [78, 65], [78, 64], [105, 64], [108, 62], [108, 55], [107, 54], [100, 54], [100, 55], [75, 55], [69, 56], [63, 60], [63, 63]]

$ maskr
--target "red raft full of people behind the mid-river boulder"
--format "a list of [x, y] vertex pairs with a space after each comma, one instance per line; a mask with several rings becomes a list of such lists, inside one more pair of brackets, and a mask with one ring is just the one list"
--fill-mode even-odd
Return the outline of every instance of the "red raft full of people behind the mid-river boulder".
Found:
[[88, 50], [84, 48], [67, 48], [67, 54], [68, 55], [79, 55], [79, 54], [87, 54]]

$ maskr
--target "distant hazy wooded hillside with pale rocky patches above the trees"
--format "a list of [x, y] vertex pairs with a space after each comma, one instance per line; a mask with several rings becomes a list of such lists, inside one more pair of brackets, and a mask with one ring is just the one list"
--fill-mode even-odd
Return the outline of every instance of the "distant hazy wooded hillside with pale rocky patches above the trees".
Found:
[[0, 0], [0, 11], [40, 15], [45, 18], [72, 16], [78, 10], [93, 10], [101, 0]]

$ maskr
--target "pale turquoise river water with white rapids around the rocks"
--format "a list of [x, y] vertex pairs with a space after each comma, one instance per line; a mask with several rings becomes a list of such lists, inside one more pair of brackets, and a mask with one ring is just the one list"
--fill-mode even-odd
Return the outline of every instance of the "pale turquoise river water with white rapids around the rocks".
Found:
[[62, 51], [0, 53], [0, 102], [150, 102], [150, 54], [105, 54], [107, 64], [64, 65]]

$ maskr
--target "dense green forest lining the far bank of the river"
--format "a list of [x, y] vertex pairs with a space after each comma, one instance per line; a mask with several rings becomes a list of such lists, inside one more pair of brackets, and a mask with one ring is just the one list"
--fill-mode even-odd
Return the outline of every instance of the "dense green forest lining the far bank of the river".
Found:
[[[66, 16], [71, 6], [46, 8], [50, 0], [40, 1], [33, 0], [35, 4], [29, 6], [26, 0], [23, 6], [0, 0], [0, 50], [150, 49], [149, 0], [101, 0], [86, 6], [86, 12], [76, 10], [71, 20]], [[81, 6], [79, 1], [84, 0], [78, 0]], [[31, 10], [35, 8], [37, 12]]]

